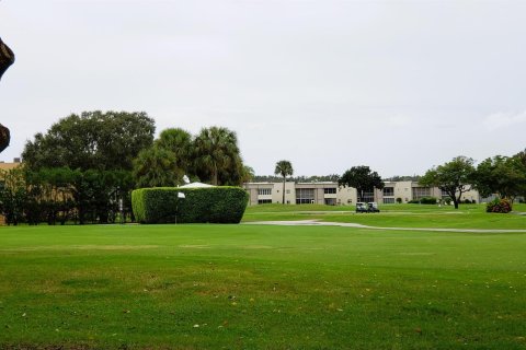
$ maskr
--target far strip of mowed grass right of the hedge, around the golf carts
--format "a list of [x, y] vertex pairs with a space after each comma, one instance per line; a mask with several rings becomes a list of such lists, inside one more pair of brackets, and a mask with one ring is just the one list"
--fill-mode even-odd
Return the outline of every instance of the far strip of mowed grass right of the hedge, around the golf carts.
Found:
[[487, 213], [485, 205], [451, 206], [380, 205], [379, 213], [355, 213], [354, 206], [263, 205], [247, 209], [243, 222], [319, 220], [378, 228], [526, 229], [526, 205], [514, 205], [512, 214]]

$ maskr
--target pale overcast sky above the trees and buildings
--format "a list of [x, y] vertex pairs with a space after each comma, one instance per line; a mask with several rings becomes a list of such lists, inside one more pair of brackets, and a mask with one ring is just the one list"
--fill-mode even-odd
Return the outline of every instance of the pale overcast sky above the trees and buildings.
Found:
[[526, 1], [2, 0], [0, 160], [83, 110], [225, 126], [259, 175], [526, 148]]

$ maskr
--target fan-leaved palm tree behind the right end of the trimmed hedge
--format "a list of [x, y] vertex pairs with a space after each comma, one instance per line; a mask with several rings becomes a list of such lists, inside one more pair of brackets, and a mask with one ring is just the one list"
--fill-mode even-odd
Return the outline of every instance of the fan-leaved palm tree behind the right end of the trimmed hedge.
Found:
[[[194, 140], [195, 168], [202, 180], [219, 185], [220, 175], [237, 168], [241, 162], [236, 132], [221, 127], [204, 128]], [[221, 178], [221, 183], [228, 179]]]

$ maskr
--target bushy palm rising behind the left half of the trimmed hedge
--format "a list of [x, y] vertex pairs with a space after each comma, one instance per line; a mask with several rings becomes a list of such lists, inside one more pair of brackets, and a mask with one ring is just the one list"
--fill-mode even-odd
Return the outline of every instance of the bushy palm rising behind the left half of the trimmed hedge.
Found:
[[142, 150], [134, 161], [134, 178], [139, 188], [176, 186], [183, 175], [175, 154], [158, 145]]

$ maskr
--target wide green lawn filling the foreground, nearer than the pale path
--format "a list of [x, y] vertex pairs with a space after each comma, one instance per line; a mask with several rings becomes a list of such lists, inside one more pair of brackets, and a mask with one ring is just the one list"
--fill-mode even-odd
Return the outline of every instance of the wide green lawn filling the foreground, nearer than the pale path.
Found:
[[525, 252], [517, 233], [0, 228], [0, 348], [525, 349]]

